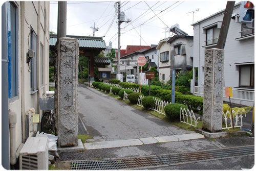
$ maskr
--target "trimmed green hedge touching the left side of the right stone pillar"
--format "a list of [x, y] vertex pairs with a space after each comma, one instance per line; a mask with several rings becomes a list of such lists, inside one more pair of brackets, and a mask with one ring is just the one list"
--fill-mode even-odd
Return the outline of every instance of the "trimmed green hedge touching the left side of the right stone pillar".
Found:
[[198, 114], [203, 114], [204, 98], [196, 95], [178, 95], [176, 102], [186, 105], [190, 110]]

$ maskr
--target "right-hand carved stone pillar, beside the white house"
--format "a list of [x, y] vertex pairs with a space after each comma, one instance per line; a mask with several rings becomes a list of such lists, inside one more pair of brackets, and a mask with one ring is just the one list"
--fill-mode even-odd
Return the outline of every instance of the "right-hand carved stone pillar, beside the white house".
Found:
[[223, 61], [224, 50], [212, 48], [205, 51], [203, 130], [222, 130]]

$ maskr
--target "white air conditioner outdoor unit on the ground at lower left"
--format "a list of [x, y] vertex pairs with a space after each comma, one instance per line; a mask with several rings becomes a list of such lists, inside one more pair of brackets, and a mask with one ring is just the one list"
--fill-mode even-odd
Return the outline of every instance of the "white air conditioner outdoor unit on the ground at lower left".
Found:
[[29, 137], [19, 152], [19, 169], [48, 170], [48, 137]]

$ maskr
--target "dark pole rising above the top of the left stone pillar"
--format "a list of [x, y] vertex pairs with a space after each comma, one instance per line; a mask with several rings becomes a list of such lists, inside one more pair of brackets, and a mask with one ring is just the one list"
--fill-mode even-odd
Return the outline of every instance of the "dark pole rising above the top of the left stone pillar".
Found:
[[66, 37], [67, 34], [67, 1], [58, 2], [57, 38]]

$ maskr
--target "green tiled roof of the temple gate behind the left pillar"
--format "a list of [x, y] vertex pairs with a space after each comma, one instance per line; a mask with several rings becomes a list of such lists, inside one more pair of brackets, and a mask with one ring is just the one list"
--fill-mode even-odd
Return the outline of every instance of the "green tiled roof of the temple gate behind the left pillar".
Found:
[[[102, 37], [89, 37], [89, 36], [68, 36], [78, 40], [79, 47], [87, 48], [107, 48], [105, 41]], [[57, 35], [50, 35], [50, 46], [54, 46], [57, 42]]]

